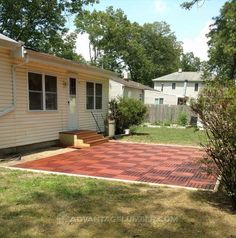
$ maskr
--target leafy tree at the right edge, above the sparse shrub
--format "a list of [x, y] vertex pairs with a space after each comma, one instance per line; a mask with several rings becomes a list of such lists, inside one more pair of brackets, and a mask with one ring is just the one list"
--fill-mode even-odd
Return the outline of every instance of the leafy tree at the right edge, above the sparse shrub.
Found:
[[236, 79], [236, 0], [224, 4], [208, 37], [211, 71], [222, 78]]

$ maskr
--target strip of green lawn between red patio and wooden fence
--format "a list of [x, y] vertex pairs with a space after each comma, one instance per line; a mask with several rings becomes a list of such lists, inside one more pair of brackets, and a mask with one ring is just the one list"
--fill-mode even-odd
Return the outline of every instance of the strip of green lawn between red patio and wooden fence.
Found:
[[132, 135], [125, 136], [122, 140], [145, 142], [145, 143], [161, 143], [161, 144], [182, 144], [182, 145], [197, 145], [206, 141], [206, 136], [203, 131], [195, 131], [193, 128], [150, 128], [138, 127], [138, 133], [148, 133], [148, 135]]

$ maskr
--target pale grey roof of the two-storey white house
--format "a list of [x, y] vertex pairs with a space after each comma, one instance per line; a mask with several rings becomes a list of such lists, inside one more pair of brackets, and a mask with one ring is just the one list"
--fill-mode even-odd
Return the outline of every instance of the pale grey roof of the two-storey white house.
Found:
[[202, 72], [175, 72], [172, 74], [167, 74], [159, 78], [155, 78], [152, 81], [159, 82], [178, 82], [178, 81], [203, 81]]

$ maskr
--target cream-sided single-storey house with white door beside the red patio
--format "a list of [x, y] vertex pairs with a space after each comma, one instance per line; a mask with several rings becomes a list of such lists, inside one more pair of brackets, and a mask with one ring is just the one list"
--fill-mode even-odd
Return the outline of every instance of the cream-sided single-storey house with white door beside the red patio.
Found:
[[59, 132], [104, 129], [116, 74], [28, 50], [0, 34], [0, 150], [54, 143]]

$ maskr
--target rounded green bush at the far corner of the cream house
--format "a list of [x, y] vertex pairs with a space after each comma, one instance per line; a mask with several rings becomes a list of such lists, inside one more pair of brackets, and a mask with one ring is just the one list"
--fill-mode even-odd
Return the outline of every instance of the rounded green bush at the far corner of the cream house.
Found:
[[142, 101], [132, 98], [113, 99], [109, 103], [110, 117], [116, 121], [116, 133], [121, 134], [124, 129], [144, 122], [147, 107]]

